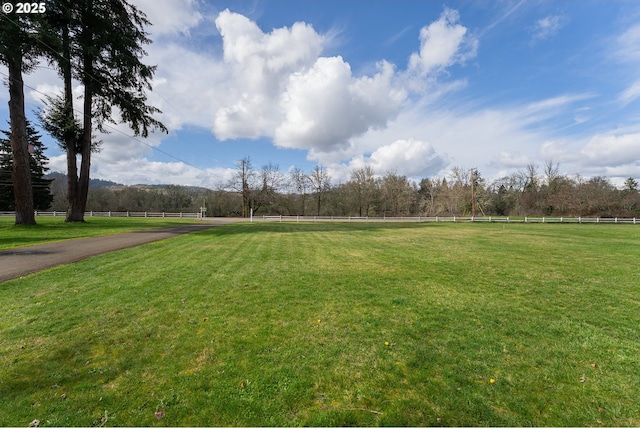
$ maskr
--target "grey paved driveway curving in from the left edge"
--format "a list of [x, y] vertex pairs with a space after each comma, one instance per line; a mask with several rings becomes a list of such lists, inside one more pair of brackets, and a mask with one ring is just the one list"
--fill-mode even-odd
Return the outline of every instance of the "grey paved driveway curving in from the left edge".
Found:
[[54, 266], [74, 263], [98, 254], [135, 247], [225, 223], [227, 222], [203, 221], [197, 224], [181, 224], [162, 229], [70, 239], [50, 244], [2, 250], [0, 251], [0, 283]]

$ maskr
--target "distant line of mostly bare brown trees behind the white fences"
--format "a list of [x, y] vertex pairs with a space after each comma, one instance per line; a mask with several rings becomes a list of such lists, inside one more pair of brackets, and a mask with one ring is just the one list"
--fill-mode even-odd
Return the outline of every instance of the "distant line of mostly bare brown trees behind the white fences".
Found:
[[[64, 196], [52, 185], [52, 209]], [[453, 168], [444, 177], [416, 182], [395, 172], [377, 175], [355, 169], [350, 179], [332, 183], [326, 169], [283, 173], [277, 165], [254, 169], [248, 158], [235, 177], [216, 190], [183, 186], [91, 188], [87, 210], [199, 212], [208, 216], [582, 216], [640, 217], [638, 182], [622, 188], [607, 178], [569, 177], [550, 162], [529, 165], [495, 181], [476, 169]]]

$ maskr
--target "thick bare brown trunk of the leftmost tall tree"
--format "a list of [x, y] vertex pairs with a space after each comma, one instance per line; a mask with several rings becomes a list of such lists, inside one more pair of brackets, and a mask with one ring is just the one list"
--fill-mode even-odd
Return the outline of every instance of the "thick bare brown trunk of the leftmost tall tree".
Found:
[[15, 224], [36, 224], [29, 168], [29, 146], [24, 114], [24, 83], [22, 61], [7, 61], [9, 69], [9, 116], [11, 118], [11, 151], [13, 153], [13, 193], [16, 208]]

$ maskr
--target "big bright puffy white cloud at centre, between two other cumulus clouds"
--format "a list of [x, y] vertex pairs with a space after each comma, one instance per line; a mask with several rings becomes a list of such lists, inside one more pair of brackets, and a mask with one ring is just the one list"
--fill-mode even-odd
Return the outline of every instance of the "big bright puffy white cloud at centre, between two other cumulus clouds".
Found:
[[378, 64], [378, 70], [373, 77], [354, 78], [349, 64], [331, 57], [292, 74], [280, 101], [285, 120], [275, 131], [275, 144], [311, 149], [316, 156], [383, 127], [395, 117], [406, 93], [393, 87], [389, 63]]

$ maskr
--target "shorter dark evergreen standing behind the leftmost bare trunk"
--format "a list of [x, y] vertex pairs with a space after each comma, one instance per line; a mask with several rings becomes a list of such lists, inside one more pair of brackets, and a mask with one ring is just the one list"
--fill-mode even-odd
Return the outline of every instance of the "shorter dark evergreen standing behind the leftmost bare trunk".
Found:
[[[40, 141], [40, 134], [27, 121], [26, 135], [28, 142], [29, 169], [31, 172], [31, 186], [33, 195], [33, 207], [36, 210], [46, 210], [51, 207], [53, 195], [50, 191], [50, 184], [53, 180], [44, 178], [49, 170], [47, 164], [49, 159], [44, 155], [46, 147]], [[6, 138], [0, 138], [0, 211], [15, 210], [15, 196], [12, 179], [13, 153], [11, 150], [11, 132], [0, 131]]]

